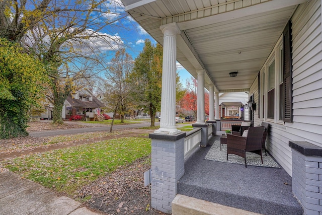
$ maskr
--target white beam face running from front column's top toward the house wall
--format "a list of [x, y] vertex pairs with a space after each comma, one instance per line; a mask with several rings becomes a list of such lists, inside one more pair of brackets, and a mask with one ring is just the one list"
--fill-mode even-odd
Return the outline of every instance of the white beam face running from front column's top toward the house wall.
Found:
[[[307, 0], [283, 0], [283, 1], [272, 0], [261, 4], [253, 5], [251, 7], [241, 8], [241, 9], [233, 10], [222, 14], [207, 16], [199, 19], [194, 19], [191, 21], [177, 22], [177, 25], [179, 26], [180, 30], [187, 30], [187, 29], [211, 25], [219, 22], [224, 22], [228, 20], [239, 19], [246, 16], [266, 13], [266, 12], [294, 6], [294, 5], [299, 5], [299, 4], [305, 3], [306, 1]], [[166, 24], [166, 19], [167, 18], [164, 19], [164, 24]]]

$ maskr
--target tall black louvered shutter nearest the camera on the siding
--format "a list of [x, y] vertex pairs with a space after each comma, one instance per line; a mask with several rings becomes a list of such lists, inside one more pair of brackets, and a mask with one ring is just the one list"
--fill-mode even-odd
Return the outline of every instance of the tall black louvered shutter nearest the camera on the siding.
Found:
[[291, 21], [283, 31], [284, 122], [293, 121], [292, 110], [292, 34]]

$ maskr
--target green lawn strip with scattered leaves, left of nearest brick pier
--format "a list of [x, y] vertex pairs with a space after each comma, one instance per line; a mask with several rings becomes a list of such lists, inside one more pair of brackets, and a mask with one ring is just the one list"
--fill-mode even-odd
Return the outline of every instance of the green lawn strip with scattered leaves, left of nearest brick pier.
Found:
[[79, 187], [150, 153], [150, 139], [123, 137], [28, 155], [2, 164], [22, 177], [74, 195]]

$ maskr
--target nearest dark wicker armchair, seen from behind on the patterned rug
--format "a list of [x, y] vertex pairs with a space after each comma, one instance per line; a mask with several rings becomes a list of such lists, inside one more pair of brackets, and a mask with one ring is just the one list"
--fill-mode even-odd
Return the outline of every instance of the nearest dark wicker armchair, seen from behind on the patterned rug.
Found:
[[246, 152], [253, 152], [261, 156], [262, 164], [262, 142], [263, 142], [264, 126], [250, 127], [247, 137], [227, 134], [227, 161], [228, 154], [238, 155], [245, 159]]

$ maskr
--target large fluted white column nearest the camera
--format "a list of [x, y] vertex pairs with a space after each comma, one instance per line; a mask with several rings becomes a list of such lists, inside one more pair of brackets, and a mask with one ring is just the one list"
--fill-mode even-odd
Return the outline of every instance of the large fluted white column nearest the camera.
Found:
[[162, 93], [160, 128], [154, 133], [177, 134], [181, 130], [176, 128], [176, 60], [177, 35], [180, 29], [176, 23], [160, 26], [164, 34], [163, 65], [162, 65]]

